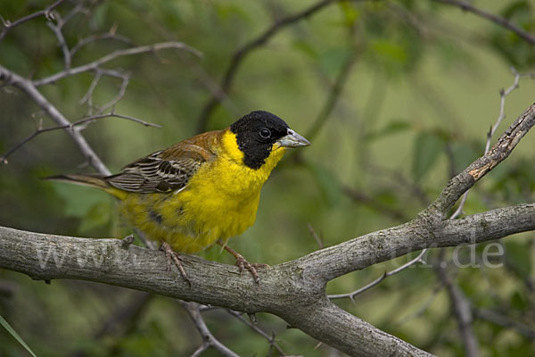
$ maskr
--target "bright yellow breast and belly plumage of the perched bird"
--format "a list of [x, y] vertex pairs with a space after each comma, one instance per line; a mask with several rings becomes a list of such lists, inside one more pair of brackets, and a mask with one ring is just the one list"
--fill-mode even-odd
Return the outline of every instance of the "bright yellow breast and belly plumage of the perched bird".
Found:
[[266, 163], [252, 170], [242, 164], [235, 138], [227, 140], [219, 159], [204, 163], [182, 191], [127, 195], [122, 214], [148, 238], [179, 253], [196, 253], [242, 234], [256, 219], [260, 189], [284, 148], [274, 148]]

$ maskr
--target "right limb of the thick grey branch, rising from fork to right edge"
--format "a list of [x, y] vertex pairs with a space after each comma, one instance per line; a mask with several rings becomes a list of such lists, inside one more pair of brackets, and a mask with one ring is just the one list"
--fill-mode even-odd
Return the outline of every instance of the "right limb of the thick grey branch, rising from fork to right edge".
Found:
[[377, 262], [416, 252], [476, 244], [535, 229], [535, 203], [499, 208], [459, 220], [413, 220], [310, 253], [298, 265], [315, 279], [331, 280]]

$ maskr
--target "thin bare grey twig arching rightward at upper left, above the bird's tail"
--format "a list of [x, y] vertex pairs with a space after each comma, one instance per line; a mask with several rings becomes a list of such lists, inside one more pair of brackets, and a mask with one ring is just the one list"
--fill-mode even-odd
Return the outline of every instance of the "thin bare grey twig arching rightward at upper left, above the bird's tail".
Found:
[[100, 67], [104, 63], [110, 62], [119, 57], [124, 57], [128, 55], [133, 55], [133, 54], [145, 54], [145, 53], [157, 52], [157, 51], [160, 51], [163, 49], [169, 49], [169, 48], [185, 50], [186, 52], [189, 52], [190, 54], [194, 54], [198, 57], [202, 57], [201, 52], [199, 52], [198, 50], [196, 50], [195, 48], [191, 46], [185, 45], [185, 43], [183, 42], [177, 42], [177, 41], [161, 42], [158, 44], [153, 44], [153, 45], [148, 45], [148, 46], [138, 46], [138, 47], [132, 47], [132, 48], [114, 51], [111, 54], [106, 54], [105, 56], [93, 62], [89, 62], [84, 65], [71, 68], [68, 71], [57, 72], [53, 74], [52, 76], [48, 76], [43, 79], [34, 80], [33, 85], [35, 87], [44, 86], [46, 84], [51, 84], [60, 79], [74, 76], [79, 73], [83, 73], [86, 71], [95, 71], [98, 67]]

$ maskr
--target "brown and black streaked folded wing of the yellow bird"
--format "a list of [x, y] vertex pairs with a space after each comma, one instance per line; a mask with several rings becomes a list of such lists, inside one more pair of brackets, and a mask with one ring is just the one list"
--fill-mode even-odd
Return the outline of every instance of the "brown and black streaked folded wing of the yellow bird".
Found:
[[132, 162], [106, 181], [113, 187], [138, 194], [181, 190], [202, 164], [215, 156], [192, 141], [189, 139]]

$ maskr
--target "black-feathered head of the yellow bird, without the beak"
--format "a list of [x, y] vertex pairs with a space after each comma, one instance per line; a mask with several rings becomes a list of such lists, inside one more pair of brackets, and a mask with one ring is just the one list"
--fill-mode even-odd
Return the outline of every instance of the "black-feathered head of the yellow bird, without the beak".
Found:
[[230, 131], [235, 133], [243, 152], [243, 163], [251, 169], [259, 169], [271, 154], [273, 144], [293, 132], [284, 120], [263, 111], [243, 116], [230, 126]]

